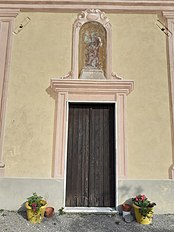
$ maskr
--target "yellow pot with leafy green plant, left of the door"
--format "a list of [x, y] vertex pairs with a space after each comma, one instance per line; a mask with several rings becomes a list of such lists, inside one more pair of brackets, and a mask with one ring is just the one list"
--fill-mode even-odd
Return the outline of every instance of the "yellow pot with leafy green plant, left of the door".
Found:
[[33, 193], [31, 197], [27, 198], [27, 202], [25, 203], [25, 207], [27, 210], [27, 218], [31, 223], [41, 223], [45, 208], [46, 201], [43, 200], [43, 197], [38, 196], [36, 193]]

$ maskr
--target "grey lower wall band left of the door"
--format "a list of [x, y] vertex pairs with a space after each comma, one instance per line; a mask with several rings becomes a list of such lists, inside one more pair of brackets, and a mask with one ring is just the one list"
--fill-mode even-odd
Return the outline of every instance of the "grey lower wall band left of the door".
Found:
[[[0, 178], [0, 205], [5, 210], [25, 210], [27, 198], [36, 192], [57, 211], [64, 205], [64, 182], [55, 179]], [[8, 200], [7, 200], [8, 199]]]

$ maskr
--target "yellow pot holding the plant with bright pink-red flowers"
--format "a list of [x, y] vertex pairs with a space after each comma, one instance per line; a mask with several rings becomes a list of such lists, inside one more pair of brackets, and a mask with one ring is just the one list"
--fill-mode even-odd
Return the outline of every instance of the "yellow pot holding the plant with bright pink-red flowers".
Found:
[[152, 223], [153, 207], [151, 208], [152, 211], [150, 213], [148, 213], [148, 215], [146, 217], [141, 215], [140, 207], [136, 206], [135, 204], [133, 204], [133, 207], [134, 207], [134, 212], [135, 212], [135, 218], [136, 218], [136, 221], [138, 223], [143, 224], [143, 225], [148, 225], [148, 224]]

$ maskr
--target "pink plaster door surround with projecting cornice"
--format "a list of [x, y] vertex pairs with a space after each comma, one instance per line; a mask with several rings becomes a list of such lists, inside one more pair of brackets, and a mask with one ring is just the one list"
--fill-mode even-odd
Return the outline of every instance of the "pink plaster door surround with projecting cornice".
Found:
[[64, 160], [67, 146], [68, 101], [117, 102], [117, 157], [120, 178], [126, 178], [126, 96], [133, 90], [133, 81], [52, 79], [51, 88], [57, 93], [54, 177], [64, 178]]

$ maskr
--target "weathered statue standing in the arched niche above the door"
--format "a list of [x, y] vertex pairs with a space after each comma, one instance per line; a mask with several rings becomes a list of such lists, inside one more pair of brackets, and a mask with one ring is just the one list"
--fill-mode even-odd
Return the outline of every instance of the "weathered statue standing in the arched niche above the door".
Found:
[[96, 32], [84, 34], [85, 47], [85, 67], [100, 69], [99, 50], [102, 46], [101, 37]]

